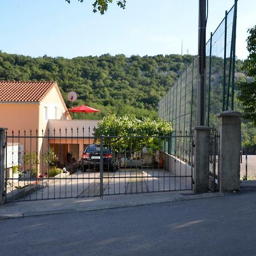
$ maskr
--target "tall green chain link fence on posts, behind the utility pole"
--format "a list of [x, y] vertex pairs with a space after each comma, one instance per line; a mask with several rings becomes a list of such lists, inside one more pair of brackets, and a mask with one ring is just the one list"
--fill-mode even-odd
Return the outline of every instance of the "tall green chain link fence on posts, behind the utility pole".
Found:
[[[234, 109], [234, 65], [237, 1], [206, 44], [205, 124], [216, 127], [215, 115]], [[159, 101], [159, 118], [171, 121], [174, 133], [191, 133], [196, 126], [197, 57]]]

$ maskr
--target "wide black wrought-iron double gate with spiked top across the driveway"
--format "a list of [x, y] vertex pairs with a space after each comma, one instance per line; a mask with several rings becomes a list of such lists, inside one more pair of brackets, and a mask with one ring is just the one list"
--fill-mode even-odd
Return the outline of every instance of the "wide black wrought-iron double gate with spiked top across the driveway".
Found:
[[87, 135], [6, 133], [5, 201], [192, 189], [190, 135]]

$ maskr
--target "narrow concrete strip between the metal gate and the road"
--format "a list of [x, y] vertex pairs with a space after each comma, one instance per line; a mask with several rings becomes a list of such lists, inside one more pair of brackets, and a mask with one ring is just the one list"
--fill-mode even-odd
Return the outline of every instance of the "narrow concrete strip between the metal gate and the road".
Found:
[[56, 210], [48, 210], [45, 212], [41, 211], [41, 212], [0, 214], [0, 220], [8, 220], [9, 218], [47, 216], [52, 214], [64, 214], [64, 213], [73, 213], [73, 212], [90, 212], [93, 210], [106, 210], [106, 209], [115, 209], [115, 208], [135, 207], [138, 205], [172, 203], [177, 201], [207, 199], [207, 198], [219, 197], [219, 196], [224, 196], [224, 194], [223, 193], [202, 193], [202, 194], [191, 194], [191, 195], [180, 194], [179, 196], [169, 197], [169, 198], [167, 197], [167, 198], [147, 199], [145, 201], [127, 201], [127, 202], [116, 203], [116, 204], [94, 205], [92, 207], [56, 209]]

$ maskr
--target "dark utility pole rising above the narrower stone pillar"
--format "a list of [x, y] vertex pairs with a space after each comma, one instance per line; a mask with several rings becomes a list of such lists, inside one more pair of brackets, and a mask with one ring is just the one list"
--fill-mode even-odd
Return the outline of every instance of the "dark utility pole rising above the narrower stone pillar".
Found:
[[206, 0], [199, 0], [197, 126], [205, 125]]

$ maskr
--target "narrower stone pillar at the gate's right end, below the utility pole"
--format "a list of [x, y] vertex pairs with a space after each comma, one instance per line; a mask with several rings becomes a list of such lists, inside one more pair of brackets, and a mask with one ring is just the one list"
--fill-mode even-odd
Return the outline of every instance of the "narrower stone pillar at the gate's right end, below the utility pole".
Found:
[[195, 127], [195, 174], [194, 192], [209, 190], [210, 128]]

